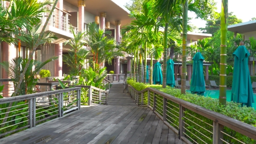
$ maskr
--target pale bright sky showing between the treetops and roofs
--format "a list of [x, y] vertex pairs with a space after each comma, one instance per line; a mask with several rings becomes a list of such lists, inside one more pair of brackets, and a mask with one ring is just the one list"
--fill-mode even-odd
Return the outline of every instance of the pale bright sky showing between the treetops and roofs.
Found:
[[[112, 0], [120, 5], [125, 5], [129, 0]], [[217, 2], [217, 12], [220, 12], [221, 0], [215, 0]], [[256, 17], [256, 0], [229, 0], [228, 12], [233, 12], [237, 18], [242, 19], [243, 22], [251, 20], [251, 18]], [[194, 13], [188, 13], [188, 16], [195, 17]], [[205, 27], [206, 21], [200, 19], [192, 19], [191, 24], [200, 27]]]

